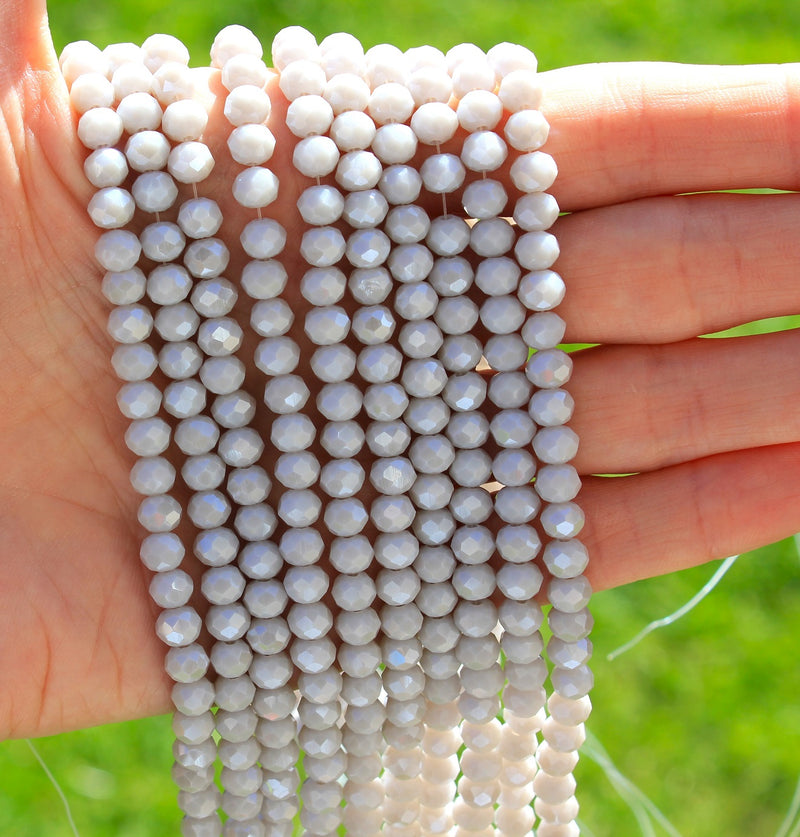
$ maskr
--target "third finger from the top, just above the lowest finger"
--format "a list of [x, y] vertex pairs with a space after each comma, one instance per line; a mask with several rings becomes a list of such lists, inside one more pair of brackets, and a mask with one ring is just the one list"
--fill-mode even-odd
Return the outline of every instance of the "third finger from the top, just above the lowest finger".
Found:
[[650, 471], [800, 439], [800, 332], [575, 355], [582, 473]]

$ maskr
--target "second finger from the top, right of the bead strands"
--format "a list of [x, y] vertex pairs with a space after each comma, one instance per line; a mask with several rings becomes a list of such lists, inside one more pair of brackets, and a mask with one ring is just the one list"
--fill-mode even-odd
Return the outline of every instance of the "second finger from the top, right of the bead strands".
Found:
[[695, 195], [561, 218], [567, 339], [676, 341], [800, 310], [798, 217], [798, 195]]

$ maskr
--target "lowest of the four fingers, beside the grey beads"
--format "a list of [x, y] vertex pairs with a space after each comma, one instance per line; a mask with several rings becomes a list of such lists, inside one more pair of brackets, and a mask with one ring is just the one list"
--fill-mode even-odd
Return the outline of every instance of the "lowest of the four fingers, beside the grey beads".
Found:
[[800, 530], [800, 444], [593, 477], [580, 502], [595, 589], [685, 569]]

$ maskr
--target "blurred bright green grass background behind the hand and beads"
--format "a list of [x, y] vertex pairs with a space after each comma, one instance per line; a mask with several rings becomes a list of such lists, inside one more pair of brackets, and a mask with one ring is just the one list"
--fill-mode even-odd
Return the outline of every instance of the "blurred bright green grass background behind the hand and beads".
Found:
[[[290, 23], [318, 37], [350, 31], [366, 45], [390, 40], [446, 49], [461, 41], [489, 47], [515, 40], [533, 47], [544, 69], [619, 60], [790, 61], [800, 46], [800, 4], [788, 0], [49, 5], [58, 49], [75, 39], [141, 42], [166, 31], [185, 40], [197, 63], [205, 63], [214, 33], [230, 22], [251, 26], [267, 43]], [[743, 556], [689, 616], [614, 662], [606, 660], [648, 621], [688, 600], [712, 571], [700, 567], [595, 597], [597, 686], [590, 726], [619, 769], [684, 837], [771, 837], [789, 810], [800, 771], [800, 574], [794, 542]], [[164, 717], [36, 744], [63, 786], [83, 837], [159, 837], [178, 833], [171, 739]], [[0, 744], [0, 777], [0, 834], [71, 834], [56, 792], [25, 742]], [[578, 784], [586, 835], [646, 833], [586, 753]]]

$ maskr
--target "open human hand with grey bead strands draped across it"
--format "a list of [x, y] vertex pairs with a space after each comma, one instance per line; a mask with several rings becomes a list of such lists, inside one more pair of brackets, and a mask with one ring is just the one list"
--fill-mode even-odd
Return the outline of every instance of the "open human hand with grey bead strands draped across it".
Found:
[[[169, 708], [85, 151], [44, 14], [42, 0], [5, 0], [0, 33], [0, 736]], [[605, 344], [576, 358], [576, 465], [641, 472], [585, 477], [593, 583], [800, 529], [796, 335], [694, 339], [797, 310], [800, 198], [668, 197], [796, 186], [798, 72], [628, 65], [544, 80], [554, 193], [574, 212], [556, 229], [569, 287], [560, 312], [569, 340]], [[293, 175], [274, 165], [288, 206]], [[231, 235], [240, 227], [233, 217]]]

